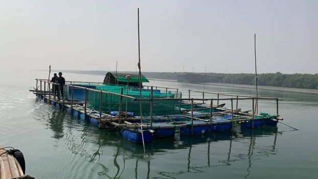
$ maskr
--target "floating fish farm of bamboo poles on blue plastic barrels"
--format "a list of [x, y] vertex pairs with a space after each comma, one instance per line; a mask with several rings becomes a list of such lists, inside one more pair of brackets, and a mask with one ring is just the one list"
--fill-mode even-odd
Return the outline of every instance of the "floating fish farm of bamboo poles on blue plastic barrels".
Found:
[[[123, 78], [121, 80], [126, 82]], [[56, 93], [61, 90], [64, 96]], [[173, 138], [176, 132], [202, 135], [235, 130], [238, 125], [246, 128], [276, 126], [279, 120], [283, 120], [278, 114], [278, 102], [282, 100], [279, 98], [196, 90], [188, 90], [187, 97], [183, 97], [177, 88], [143, 86], [140, 91], [133, 82], [124, 85], [105, 81], [66, 81], [61, 87], [44, 79], [36, 79], [36, 88], [30, 91], [44, 102], [99, 128], [119, 128], [124, 139], [137, 144], [146, 144], [156, 138]], [[202, 98], [192, 98], [191, 93], [200, 93]], [[208, 99], [205, 94], [217, 97]], [[251, 101], [251, 110], [238, 107], [242, 100]], [[276, 114], [258, 113], [259, 100], [276, 101]], [[225, 101], [230, 107], [219, 104], [220, 101]]]

